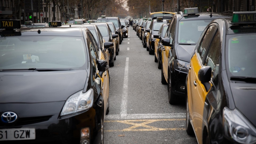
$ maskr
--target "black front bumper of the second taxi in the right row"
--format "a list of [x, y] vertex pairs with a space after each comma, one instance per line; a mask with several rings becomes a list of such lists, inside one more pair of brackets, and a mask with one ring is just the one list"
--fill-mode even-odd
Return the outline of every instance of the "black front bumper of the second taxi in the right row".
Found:
[[185, 90], [181, 90], [180, 86], [185, 86], [188, 73], [174, 68], [172, 72], [172, 92], [175, 95], [185, 96]]

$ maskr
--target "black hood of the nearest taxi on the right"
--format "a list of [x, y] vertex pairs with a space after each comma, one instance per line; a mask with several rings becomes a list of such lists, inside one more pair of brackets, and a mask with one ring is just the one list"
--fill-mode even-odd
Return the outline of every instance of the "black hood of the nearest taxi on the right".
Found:
[[256, 127], [256, 84], [230, 83], [236, 108]]

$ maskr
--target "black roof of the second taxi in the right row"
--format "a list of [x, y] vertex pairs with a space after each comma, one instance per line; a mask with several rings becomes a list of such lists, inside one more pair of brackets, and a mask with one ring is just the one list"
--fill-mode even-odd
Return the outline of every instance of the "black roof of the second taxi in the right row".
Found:
[[214, 20], [218, 18], [231, 18], [232, 15], [228, 13], [218, 13], [218, 12], [202, 12], [194, 15], [186, 15], [184, 14], [183, 17], [180, 13], [175, 14], [177, 17], [180, 18], [180, 21], [183, 20]]

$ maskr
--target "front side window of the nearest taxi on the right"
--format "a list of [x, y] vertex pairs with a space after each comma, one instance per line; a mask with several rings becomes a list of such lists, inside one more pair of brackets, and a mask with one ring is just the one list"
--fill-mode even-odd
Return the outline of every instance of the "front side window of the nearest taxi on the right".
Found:
[[212, 81], [215, 87], [217, 87], [220, 68], [220, 32], [218, 30], [208, 48], [204, 66], [210, 66], [212, 68]]

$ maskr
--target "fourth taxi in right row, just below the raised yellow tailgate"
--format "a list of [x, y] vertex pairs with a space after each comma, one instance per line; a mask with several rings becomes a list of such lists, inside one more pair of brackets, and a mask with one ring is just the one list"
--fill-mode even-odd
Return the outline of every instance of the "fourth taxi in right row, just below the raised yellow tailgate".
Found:
[[[172, 19], [172, 18], [170, 18]], [[164, 20], [163, 17], [157, 17], [156, 20], [152, 20], [149, 29], [146, 29], [147, 32], [147, 51], [149, 54], [154, 54], [155, 51], [155, 34], [158, 34], [161, 26], [167, 23], [167, 20]]]

